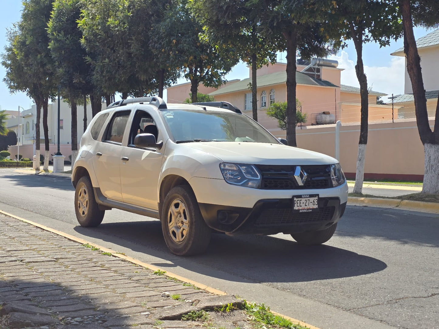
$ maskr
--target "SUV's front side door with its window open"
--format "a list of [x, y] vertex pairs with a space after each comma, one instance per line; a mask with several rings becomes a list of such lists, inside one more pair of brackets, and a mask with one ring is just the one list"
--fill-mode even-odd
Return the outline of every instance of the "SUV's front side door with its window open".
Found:
[[162, 133], [151, 115], [144, 110], [137, 110], [130, 129], [128, 146], [123, 147], [120, 166], [123, 201], [140, 207], [158, 210], [158, 176], [162, 166], [163, 151], [153, 148], [134, 146], [134, 138], [139, 133], [151, 133], [156, 140], [161, 140]]

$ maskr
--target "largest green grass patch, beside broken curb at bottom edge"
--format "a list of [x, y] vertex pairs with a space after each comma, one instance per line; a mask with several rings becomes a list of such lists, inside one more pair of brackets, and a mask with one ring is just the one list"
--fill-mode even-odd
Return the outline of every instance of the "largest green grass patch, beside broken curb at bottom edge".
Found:
[[306, 329], [297, 323], [293, 323], [279, 315], [270, 312], [270, 308], [264, 304], [248, 303], [245, 301], [244, 309], [250, 316], [252, 322], [259, 324], [261, 328], [286, 328], [286, 329]]

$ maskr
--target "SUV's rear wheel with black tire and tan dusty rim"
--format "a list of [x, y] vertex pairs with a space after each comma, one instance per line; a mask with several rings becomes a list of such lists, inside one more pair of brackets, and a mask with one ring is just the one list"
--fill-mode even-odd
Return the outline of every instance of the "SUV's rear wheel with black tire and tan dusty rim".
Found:
[[94, 198], [93, 186], [86, 176], [79, 179], [75, 191], [75, 213], [79, 225], [96, 227], [104, 219], [104, 210], [100, 210]]

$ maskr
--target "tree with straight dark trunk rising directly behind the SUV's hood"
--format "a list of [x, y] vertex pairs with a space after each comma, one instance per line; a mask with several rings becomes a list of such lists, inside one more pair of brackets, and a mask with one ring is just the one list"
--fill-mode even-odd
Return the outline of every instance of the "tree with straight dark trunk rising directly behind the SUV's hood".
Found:
[[[255, 0], [257, 1], [257, 0]], [[324, 57], [335, 53], [334, 40], [325, 32], [324, 18], [335, 6], [335, 1], [324, 0], [260, 0], [263, 25], [274, 36], [283, 38], [281, 50], [287, 52], [287, 140], [296, 143], [296, 58]]]

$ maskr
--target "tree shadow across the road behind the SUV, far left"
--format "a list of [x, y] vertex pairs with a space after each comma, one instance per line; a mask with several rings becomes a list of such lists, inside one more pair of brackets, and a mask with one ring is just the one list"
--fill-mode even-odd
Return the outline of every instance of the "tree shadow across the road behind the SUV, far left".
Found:
[[35, 175], [35, 174], [7, 174], [0, 175], [2, 179], [10, 179], [15, 185], [25, 187], [50, 187], [51, 189], [73, 191], [72, 182], [69, 178], [55, 175]]

